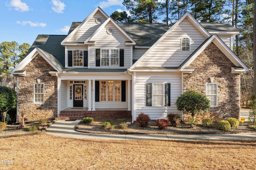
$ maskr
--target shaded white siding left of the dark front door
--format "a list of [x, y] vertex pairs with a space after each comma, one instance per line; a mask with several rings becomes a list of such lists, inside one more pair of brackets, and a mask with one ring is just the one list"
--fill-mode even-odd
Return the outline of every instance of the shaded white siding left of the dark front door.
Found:
[[[60, 110], [68, 107], [68, 95], [70, 94], [67, 80], [61, 80], [60, 82]], [[71, 89], [72, 90], [72, 89]], [[68, 93], [67, 93], [68, 92]], [[73, 91], [71, 92], [71, 94]]]

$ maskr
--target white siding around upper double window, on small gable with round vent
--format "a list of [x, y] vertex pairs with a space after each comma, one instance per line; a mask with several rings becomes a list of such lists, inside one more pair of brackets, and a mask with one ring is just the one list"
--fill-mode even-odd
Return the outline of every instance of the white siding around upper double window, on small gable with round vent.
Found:
[[[112, 34], [106, 33], [108, 28], [114, 29]], [[112, 23], [108, 23], [91, 41], [95, 41], [95, 45], [90, 46], [90, 68], [100, 68], [96, 67], [96, 49], [124, 49], [124, 67], [122, 68], [131, 66], [131, 47], [130, 45], [125, 45], [125, 41], [130, 40]], [[108, 68], [116, 68], [116, 66], [108, 66]]]

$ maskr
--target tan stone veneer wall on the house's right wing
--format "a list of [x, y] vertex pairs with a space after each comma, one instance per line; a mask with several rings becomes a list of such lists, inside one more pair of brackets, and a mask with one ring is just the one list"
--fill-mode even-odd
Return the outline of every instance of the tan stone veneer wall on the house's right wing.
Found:
[[[218, 83], [218, 106], [211, 107], [206, 113], [197, 114], [197, 119], [239, 119], [240, 75], [231, 73], [231, 67], [235, 65], [211, 43], [190, 66], [195, 70], [192, 74], [184, 74], [184, 91], [197, 90], [206, 94], [206, 83], [210, 83], [210, 77], [214, 77], [214, 83]], [[188, 121], [189, 117], [190, 115], [184, 113], [184, 121]]]

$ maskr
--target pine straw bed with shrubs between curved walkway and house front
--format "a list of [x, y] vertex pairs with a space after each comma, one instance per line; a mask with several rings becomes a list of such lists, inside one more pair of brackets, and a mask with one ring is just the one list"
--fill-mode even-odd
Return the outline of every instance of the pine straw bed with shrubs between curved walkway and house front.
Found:
[[[115, 129], [104, 130], [101, 128], [102, 123], [110, 122], [111, 125], [116, 125]], [[113, 119], [113, 118], [94, 118], [90, 124], [80, 123], [76, 126], [76, 131], [85, 133], [104, 133], [104, 134], [223, 134], [223, 133], [243, 133], [256, 132], [254, 129], [248, 128], [248, 123], [239, 124], [236, 128], [231, 128], [230, 131], [221, 131], [217, 129], [217, 122], [214, 127], [202, 127], [197, 125], [191, 128], [188, 123], [180, 123], [178, 127], [168, 126], [167, 129], [159, 130], [154, 121], [150, 121], [148, 127], [139, 127], [138, 123], [129, 124], [127, 129], [122, 129], [120, 123], [131, 122], [131, 119]]]

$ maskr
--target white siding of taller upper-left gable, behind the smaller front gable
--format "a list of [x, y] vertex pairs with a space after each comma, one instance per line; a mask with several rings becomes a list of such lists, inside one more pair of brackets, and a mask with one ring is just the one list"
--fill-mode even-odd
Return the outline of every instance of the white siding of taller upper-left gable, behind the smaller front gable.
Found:
[[[101, 18], [100, 24], [96, 23], [96, 19]], [[87, 21], [82, 27], [67, 41], [67, 42], [80, 42], [84, 43], [88, 37], [90, 37], [102, 23], [106, 21], [106, 18], [100, 12], [97, 12], [89, 21]]]

